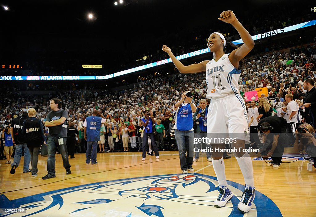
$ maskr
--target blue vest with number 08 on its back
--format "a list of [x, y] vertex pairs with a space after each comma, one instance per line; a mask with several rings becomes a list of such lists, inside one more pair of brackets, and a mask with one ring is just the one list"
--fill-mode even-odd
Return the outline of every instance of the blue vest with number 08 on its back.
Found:
[[87, 142], [100, 140], [101, 117], [89, 116], [87, 120]]

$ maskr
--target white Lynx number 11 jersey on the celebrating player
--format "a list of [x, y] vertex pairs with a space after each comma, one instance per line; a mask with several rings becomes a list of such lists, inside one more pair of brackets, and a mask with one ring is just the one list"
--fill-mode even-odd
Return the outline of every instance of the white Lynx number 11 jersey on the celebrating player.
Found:
[[228, 54], [224, 54], [217, 62], [213, 58], [206, 64], [206, 97], [222, 98], [232, 93], [240, 95], [238, 91], [240, 72], [229, 61]]

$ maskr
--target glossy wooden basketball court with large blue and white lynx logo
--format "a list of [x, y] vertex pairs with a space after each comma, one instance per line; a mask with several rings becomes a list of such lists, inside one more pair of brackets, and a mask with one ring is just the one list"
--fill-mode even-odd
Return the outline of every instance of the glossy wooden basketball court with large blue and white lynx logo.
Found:
[[[293, 153], [292, 148], [286, 148], [285, 153]], [[256, 156], [252, 155], [252, 157]], [[259, 156], [257, 155], [257, 157]], [[140, 152], [98, 153], [98, 164], [86, 165], [85, 154], [75, 154], [74, 159], [69, 159], [72, 174], [66, 175], [61, 156], [60, 154], [56, 154], [56, 178], [47, 180], [41, 178], [47, 174], [47, 157], [39, 156], [39, 172], [37, 177], [32, 177], [30, 172], [22, 173], [23, 157], [20, 166], [13, 175], [10, 174], [10, 165], [5, 164], [5, 160], [2, 160], [0, 167], [1, 214], [3, 216], [172, 217], [206, 216], [206, 214], [211, 216], [266, 216], [269, 213], [269, 216], [280, 216], [280, 214], [289, 217], [303, 215], [316, 216], [316, 209], [314, 207], [316, 201], [316, 171], [314, 168], [313, 172], [307, 171], [308, 162], [306, 160], [297, 160], [292, 163], [286, 163], [292, 160], [284, 160], [283, 164], [278, 168], [269, 166], [263, 160], [253, 160], [254, 181], [257, 192], [254, 201], [256, 208], [252, 206], [253, 210], [249, 213], [241, 214], [234, 208], [237, 206], [238, 197], [232, 200], [230, 205], [229, 203], [227, 204], [228, 208], [213, 207], [213, 201], [216, 200], [218, 192], [216, 193], [216, 190], [214, 190], [213, 195], [207, 196], [210, 192], [203, 190], [203, 188], [205, 187], [205, 183], [213, 183], [216, 186], [216, 179], [210, 178], [216, 176], [212, 162], [208, 162], [204, 154], [200, 156], [199, 161], [193, 163], [195, 172], [191, 172], [186, 176], [182, 174], [180, 169], [177, 151], [161, 152], [160, 159], [157, 160], [155, 156], [148, 155], [145, 161], [141, 159]], [[235, 196], [239, 196], [240, 198], [243, 191], [242, 185], [244, 185], [244, 179], [238, 163], [234, 156], [231, 159], [225, 159], [224, 162], [227, 180], [231, 181], [228, 182], [228, 185], [236, 188], [236, 192], [239, 189]], [[164, 176], [161, 176], [167, 174], [169, 174], [169, 176], [166, 176], [169, 181], [164, 180]], [[194, 176], [195, 174], [199, 175]], [[191, 182], [191, 180], [197, 180], [197, 178], [202, 180], [202, 174], [208, 175], [205, 178], [211, 181]], [[153, 179], [158, 177], [159, 181], [150, 181], [149, 184], [151, 185], [156, 183], [154, 187], [142, 189], [142, 186], [150, 186], [146, 184], [148, 180], [151, 180], [149, 176]], [[139, 177], [145, 178], [132, 179]], [[112, 185], [112, 181], [120, 179], [124, 179], [124, 183], [118, 185], [122, 187], [119, 187], [118, 190], [113, 190], [114, 193], [111, 192], [109, 194], [108, 189], [117, 189], [114, 187], [110, 188], [109, 184], [114, 186]], [[182, 186], [175, 184], [175, 182], [181, 183], [181, 181], [185, 184], [182, 184]], [[132, 186], [133, 182], [136, 187]], [[99, 184], [91, 185], [94, 183]], [[194, 184], [191, 185], [192, 183]], [[203, 185], [201, 187], [198, 187], [198, 185], [194, 187], [198, 183]], [[79, 187], [73, 188], [75, 186]], [[89, 188], [84, 186], [88, 186]], [[99, 186], [97, 188], [103, 190], [97, 195], [90, 197], [88, 193], [95, 193], [97, 191], [97, 188], [91, 189], [91, 186]], [[105, 188], [107, 189], [106, 191], [104, 191]], [[68, 192], [81, 190], [79, 190], [80, 193], [79, 191], [76, 193], [76, 196], [74, 196], [75, 193], [70, 193], [72, 194], [70, 196], [59, 195], [62, 198], [62, 202], [59, 200], [57, 204], [51, 204], [52, 201], [57, 200], [53, 195], [58, 195], [61, 189], [67, 189]], [[172, 193], [168, 192], [169, 190]], [[46, 196], [47, 192], [51, 192], [52, 194]], [[102, 192], [106, 192], [106, 196]], [[198, 192], [200, 196], [193, 196], [193, 194], [198, 194]], [[159, 193], [159, 196], [157, 193]], [[173, 196], [170, 196], [171, 194]], [[187, 196], [184, 194], [187, 194]], [[112, 199], [110, 198], [111, 195], [113, 196]], [[190, 199], [190, 196], [193, 199]], [[23, 199], [19, 200], [20, 198]], [[45, 199], [44, 203], [43, 198]], [[155, 199], [153, 200], [153, 198]], [[133, 205], [138, 200], [140, 200], [139, 203]], [[268, 202], [270, 200], [272, 202]], [[79, 206], [78, 201], [81, 201], [80, 205], [82, 208], [75, 208], [75, 206]], [[50, 205], [47, 205], [47, 203]], [[24, 205], [22, 206], [21, 204]], [[111, 204], [112, 206], [110, 207]], [[144, 207], [146, 205], [148, 207]], [[72, 206], [74, 207], [73, 210], [69, 211]], [[4, 209], [12, 208], [25, 208], [26, 211], [24, 213], [11, 214], [3, 212]]]

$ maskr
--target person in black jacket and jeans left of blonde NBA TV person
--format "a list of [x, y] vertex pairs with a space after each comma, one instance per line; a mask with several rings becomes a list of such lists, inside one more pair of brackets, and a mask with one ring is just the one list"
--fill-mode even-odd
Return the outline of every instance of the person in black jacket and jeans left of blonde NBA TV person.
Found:
[[27, 148], [25, 135], [22, 134], [23, 122], [28, 118], [27, 109], [21, 109], [19, 116], [14, 118], [11, 125], [11, 136], [13, 143], [15, 144], [15, 155], [13, 158], [13, 163], [11, 164], [10, 173], [14, 174], [16, 167], [19, 166], [22, 149], [24, 149], [24, 163], [23, 163], [23, 173], [31, 172], [30, 170], [30, 161], [31, 154]]

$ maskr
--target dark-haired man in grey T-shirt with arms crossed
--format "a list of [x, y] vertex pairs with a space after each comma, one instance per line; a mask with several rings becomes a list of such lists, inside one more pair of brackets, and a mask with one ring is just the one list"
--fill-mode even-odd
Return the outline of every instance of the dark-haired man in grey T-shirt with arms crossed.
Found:
[[60, 99], [51, 99], [51, 112], [47, 114], [45, 126], [49, 129], [47, 138], [47, 172], [42, 179], [54, 178], [55, 175], [55, 153], [59, 150], [66, 169], [66, 174], [71, 174], [67, 151], [67, 119], [68, 112], [61, 109]]

